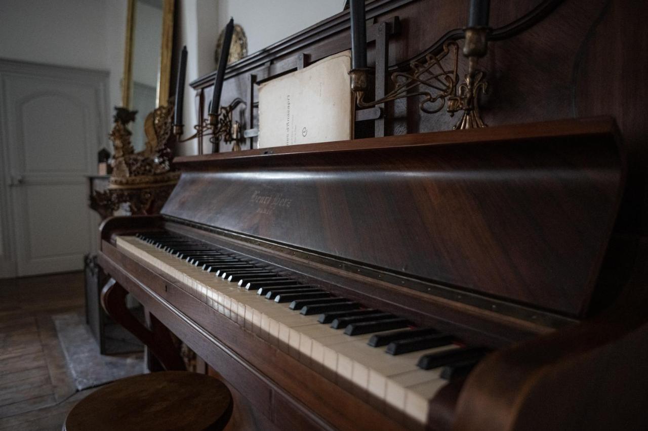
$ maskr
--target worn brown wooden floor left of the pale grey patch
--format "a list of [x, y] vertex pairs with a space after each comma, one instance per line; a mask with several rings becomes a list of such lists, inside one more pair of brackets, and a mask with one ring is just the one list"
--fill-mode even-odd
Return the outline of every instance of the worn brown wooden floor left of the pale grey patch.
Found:
[[76, 392], [51, 315], [84, 312], [81, 272], [0, 279], [0, 430], [60, 430]]

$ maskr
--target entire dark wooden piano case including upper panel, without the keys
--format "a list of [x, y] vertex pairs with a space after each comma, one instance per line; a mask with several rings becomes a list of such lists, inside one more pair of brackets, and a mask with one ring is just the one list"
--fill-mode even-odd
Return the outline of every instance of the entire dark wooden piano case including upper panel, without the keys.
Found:
[[[421, 424], [242, 329], [121, 252], [115, 236], [166, 229], [494, 349], [430, 400], [428, 429], [648, 427], [648, 4], [491, 3], [480, 60], [488, 129], [439, 132], [456, 118], [399, 100], [356, 123], [368, 139], [261, 151], [249, 138], [237, 153], [222, 144], [176, 159], [183, 175], [163, 216], [102, 227], [100, 265], [146, 305], [154, 329], [167, 326], [229, 382], [232, 429]], [[466, 12], [463, 2], [375, 0], [368, 34], [399, 22], [393, 72], [461, 39]], [[349, 45], [342, 12], [230, 65], [222, 105], [253, 107], [257, 83]], [[370, 65], [375, 56], [371, 43]], [[191, 83], [199, 118], [214, 75]], [[244, 129], [257, 124], [255, 109], [235, 115]], [[139, 335], [178, 366], [164, 331]]]

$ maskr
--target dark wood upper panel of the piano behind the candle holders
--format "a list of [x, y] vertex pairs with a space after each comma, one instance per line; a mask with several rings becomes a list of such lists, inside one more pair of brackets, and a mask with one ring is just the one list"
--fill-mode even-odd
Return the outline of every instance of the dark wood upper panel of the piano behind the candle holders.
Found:
[[[392, 71], [426, 52], [437, 52], [448, 39], [461, 38], [467, 5], [435, 0], [379, 0], [367, 5], [368, 23], [391, 21], [395, 16], [400, 18], [401, 28], [389, 43]], [[648, 233], [648, 217], [643, 216], [648, 203], [648, 86], [642, 84], [648, 56], [641, 54], [648, 47], [648, 35], [643, 31], [647, 20], [648, 3], [632, 0], [492, 1], [494, 41], [480, 61], [489, 80], [489, 93], [481, 98], [481, 113], [489, 126], [592, 115], [615, 118], [630, 156], [632, 180], [618, 227], [642, 234]], [[350, 43], [349, 17], [341, 13], [252, 53], [228, 66], [222, 104], [248, 98], [251, 73], [263, 80], [293, 71], [299, 54], [317, 61], [349, 49]], [[373, 49], [369, 45], [370, 67]], [[460, 61], [460, 76], [465, 63]], [[202, 104], [211, 100], [213, 76], [209, 73], [192, 83]], [[456, 122], [443, 111], [421, 114], [417, 100], [391, 102], [388, 109], [393, 121], [388, 122], [386, 135], [449, 130]], [[249, 117], [248, 113], [242, 116]], [[244, 124], [244, 128], [256, 127], [256, 109], [253, 118], [253, 124]], [[356, 130], [358, 137], [371, 136], [362, 131], [373, 133], [373, 127], [360, 123]], [[205, 142], [205, 152], [210, 151], [207, 146], [209, 142]], [[221, 149], [230, 151], [231, 144], [223, 144]]]

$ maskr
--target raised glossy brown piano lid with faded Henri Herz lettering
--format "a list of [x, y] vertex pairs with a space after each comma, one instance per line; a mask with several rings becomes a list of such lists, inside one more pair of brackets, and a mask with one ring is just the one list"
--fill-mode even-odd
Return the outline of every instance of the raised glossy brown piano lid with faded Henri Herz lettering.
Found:
[[583, 316], [618, 210], [610, 118], [175, 160], [162, 214]]

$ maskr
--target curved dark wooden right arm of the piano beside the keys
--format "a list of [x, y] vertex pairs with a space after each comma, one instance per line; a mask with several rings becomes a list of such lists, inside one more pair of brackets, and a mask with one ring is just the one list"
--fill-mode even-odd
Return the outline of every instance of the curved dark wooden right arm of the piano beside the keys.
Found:
[[644, 430], [648, 241], [618, 302], [581, 325], [502, 349], [470, 373], [457, 430]]

